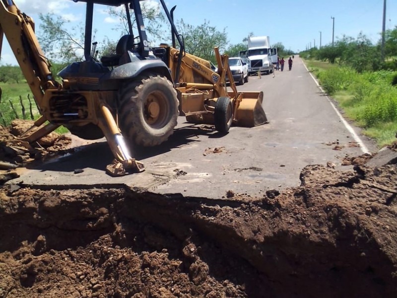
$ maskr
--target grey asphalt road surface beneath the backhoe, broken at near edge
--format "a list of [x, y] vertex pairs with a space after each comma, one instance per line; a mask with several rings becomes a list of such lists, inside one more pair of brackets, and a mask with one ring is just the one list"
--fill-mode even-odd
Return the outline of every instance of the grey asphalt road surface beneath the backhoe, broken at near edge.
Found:
[[[331, 161], [350, 169], [340, 166], [343, 157], [363, 153], [363, 148], [349, 143], [354, 142], [353, 135], [300, 58], [295, 57], [292, 71], [286, 66], [274, 76], [250, 76], [248, 83], [237, 88], [264, 91], [268, 124], [232, 127], [220, 136], [208, 126], [187, 124], [179, 117], [168, 142], [160, 148], [133, 152], [145, 164], [145, 172], [117, 178], [107, 175], [104, 169], [113, 156], [102, 141], [27, 169], [12, 183], [48, 188], [127, 184], [155, 193], [194, 197], [221, 198], [229, 190], [262, 196], [269, 189], [298, 186], [300, 171], [308, 164]], [[360, 130], [353, 129], [360, 136]], [[360, 138], [369, 151], [376, 150], [370, 140]], [[335, 150], [336, 142], [340, 150]], [[74, 174], [75, 169], [84, 171]]]

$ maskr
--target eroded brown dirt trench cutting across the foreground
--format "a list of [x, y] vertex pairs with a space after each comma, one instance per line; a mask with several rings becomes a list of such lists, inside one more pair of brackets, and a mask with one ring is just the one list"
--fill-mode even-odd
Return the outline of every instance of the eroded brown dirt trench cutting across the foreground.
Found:
[[396, 297], [396, 165], [208, 200], [7, 186], [0, 297]]

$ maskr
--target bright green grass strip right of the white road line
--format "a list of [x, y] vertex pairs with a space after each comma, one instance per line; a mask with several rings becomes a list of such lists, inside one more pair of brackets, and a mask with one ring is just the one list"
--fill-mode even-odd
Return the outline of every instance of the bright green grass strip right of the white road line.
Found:
[[305, 60], [324, 90], [344, 111], [344, 115], [362, 127], [363, 133], [383, 147], [396, 141], [397, 86], [392, 82], [397, 72], [357, 73], [323, 61]]

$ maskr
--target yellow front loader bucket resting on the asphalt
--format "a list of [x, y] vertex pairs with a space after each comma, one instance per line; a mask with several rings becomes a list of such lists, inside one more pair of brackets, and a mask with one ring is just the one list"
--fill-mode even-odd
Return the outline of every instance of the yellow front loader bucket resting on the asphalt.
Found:
[[[234, 92], [228, 92], [233, 98]], [[241, 101], [237, 99], [237, 110], [234, 111], [233, 120], [235, 125], [243, 127], [254, 127], [267, 123], [265, 111], [262, 107], [264, 92], [239, 92], [242, 94]]]

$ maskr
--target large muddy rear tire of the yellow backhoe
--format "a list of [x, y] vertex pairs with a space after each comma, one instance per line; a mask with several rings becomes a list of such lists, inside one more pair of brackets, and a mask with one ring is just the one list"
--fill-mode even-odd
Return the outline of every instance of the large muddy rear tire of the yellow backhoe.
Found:
[[178, 118], [178, 98], [164, 76], [145, 74], [125, 84], [119, 96], [120, 129], [134, 145], [150, 147], [167, 141]]

